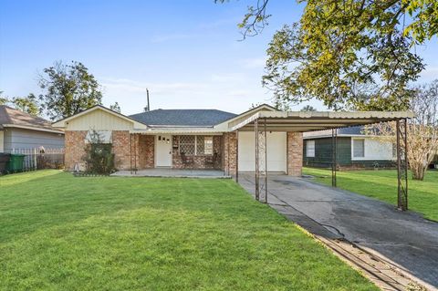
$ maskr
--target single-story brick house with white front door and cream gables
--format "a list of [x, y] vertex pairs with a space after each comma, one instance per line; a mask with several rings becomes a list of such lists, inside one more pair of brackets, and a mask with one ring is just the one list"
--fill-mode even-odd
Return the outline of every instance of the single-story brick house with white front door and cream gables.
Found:
[[[97, 130], [112, 143], [118, 170], [217, 169], [235, 174], [255, 171], [255, 132], [231, 130], [266, 104], [241, 114], [217, 109], [156, 109], [125, 116], [102, 106], [84, 110], [54, 127], [65, 130], [66, 169], [83, 166], [89, 133]], [[301, 132], [267, 132], [267, 170], [301, 175]], [[238, 160], [238, 161], [236, 161]]]

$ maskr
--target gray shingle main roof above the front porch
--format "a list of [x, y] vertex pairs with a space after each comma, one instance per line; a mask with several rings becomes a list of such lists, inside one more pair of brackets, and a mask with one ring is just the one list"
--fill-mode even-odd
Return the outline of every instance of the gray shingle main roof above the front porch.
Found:
[[235, 116], [216, 109], [156, 109], [130, 115], [130, 118], [150, 126], [209, 127]]

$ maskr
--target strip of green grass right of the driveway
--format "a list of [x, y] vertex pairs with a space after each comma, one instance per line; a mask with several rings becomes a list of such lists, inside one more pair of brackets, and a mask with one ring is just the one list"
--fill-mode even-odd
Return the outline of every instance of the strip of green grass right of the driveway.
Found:
[[[316, 176], [317, 182], [331, 185], [331, 171], [304, 168], [303, 173]], [[338, 187], [381, 201], [397, 204], [397, 171], [338, 171]], [[438, 221], [438, 171], [426, 171], [424, 181], [409, 179], [409, 209], [425, 218]]]

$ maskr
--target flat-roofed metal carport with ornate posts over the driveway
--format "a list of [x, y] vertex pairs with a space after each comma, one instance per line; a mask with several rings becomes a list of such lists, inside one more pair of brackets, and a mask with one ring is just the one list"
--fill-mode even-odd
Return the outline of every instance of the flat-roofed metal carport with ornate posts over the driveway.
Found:
[[[255, 199], [267, 203], [268, 166], [267, 166], [267, 132], [287, 131], [306, 132], [314, 130], [331, 130], [332, 132], [332, 186], [336, 187], [336, 145], [337, 129], [370, 125], [380, 122], [395, 121], [397, 134], [397, 179], [398, 207], [408, 209], [408, 157], [407, 127], [408, 119], [414, 115], [410, 111], [362, 111], [362, 112], [297, 112], [297, 111], [259, 111], [254, 115], [230, 124], [230, 130], [236, 132], [253, 131], [255, 136]], [[238, 144], [238, 142], [237, 142]], [[235, 151], [238, 161], [238, 151]], [[238, 181], [238, 169], [235, 173]]]

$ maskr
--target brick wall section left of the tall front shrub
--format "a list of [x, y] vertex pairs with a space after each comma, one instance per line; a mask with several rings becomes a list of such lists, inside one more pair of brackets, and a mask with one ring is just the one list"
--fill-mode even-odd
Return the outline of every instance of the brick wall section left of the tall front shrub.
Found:
[[73, 171], [76, 163], [82, 163], [85, 156], [87, 130], [68, 130], [65, 135], [65, 164], [67, 171]]

